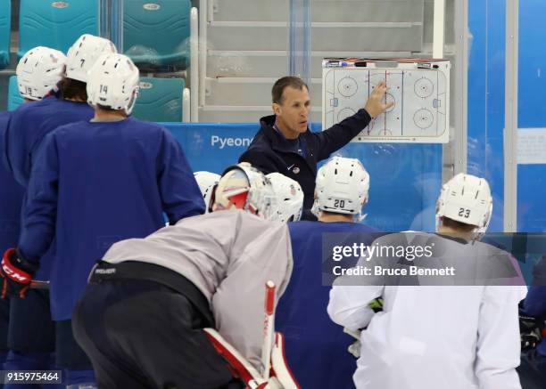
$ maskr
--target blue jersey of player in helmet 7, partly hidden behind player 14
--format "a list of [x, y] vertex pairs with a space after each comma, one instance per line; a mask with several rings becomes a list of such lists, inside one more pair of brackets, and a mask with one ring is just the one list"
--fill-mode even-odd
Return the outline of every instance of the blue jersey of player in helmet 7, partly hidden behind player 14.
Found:
[[86, 102], [62, 100], [56, 96], [15, 109], [6, 130], [3, 150], [15, 180], [27, 187], [38, 146], [46, 134], [59, 126], [89, 120], [94, 115]]

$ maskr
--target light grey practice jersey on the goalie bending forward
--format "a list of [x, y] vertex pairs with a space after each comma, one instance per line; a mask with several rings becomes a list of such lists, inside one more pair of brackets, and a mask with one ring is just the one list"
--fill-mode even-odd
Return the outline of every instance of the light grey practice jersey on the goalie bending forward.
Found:
[[275, 282], [278, 299], [293, 267], [286, 224], [240, 210], [189, 217], [145, 239], [120, 241], [103, 261], [154, 263], [182, 274], [211, 304], [220, 335], [256, 368], [265, 283]]

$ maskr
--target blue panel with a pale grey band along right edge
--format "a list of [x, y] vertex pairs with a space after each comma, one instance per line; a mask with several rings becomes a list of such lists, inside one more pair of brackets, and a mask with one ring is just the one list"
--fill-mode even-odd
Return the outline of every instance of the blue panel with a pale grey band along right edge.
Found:
[[[542, 259], [546, 252], [546, 80], [542, 74], [546, 53], [537, 47], [546, 36], [539, 17], [545, 11], [546, 4], [541, 1], [519, 2], [519, 61], [518, 72], [513, 75], [518, 83], [517, 231], [525, 232], [520, 239], [525, 255], [518, 259], [527, 280], [542, 288], [546, 285], [539, 276], [546, 265], [546, 257]], [[533, 295], [536, 292], [532, 290]]]

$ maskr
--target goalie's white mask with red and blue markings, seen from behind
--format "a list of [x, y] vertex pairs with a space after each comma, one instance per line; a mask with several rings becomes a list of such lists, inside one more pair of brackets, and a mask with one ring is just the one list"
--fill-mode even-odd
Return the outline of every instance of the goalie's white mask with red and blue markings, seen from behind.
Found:
[[269, 178], [242, 162], [227, 167], [222, 174], [214, 191], [212, 212], [237, 208], [272, 220], [276, 206], [277, 198]]

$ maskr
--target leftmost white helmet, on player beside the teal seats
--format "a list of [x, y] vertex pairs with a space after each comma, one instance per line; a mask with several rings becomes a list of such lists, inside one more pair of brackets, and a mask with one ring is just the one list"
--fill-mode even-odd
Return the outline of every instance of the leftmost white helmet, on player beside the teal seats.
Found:
[[64, 75], [66, 57], [58, 50], [37, 46], [30, 49], [17, 64], [19, 93], [29, 100], [41, 100], [57, 91], [57, 83]]

